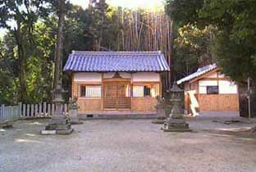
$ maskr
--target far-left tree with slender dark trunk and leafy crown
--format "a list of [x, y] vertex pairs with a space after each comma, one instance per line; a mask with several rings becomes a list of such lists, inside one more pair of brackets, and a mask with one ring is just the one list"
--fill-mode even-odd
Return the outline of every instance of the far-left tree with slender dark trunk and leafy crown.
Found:
[[[19, 94], [18, 99], [30, 102], [27, 91], [27, 61], [34, 53], [34, 24], [39, 20], [43, 0], [4, 0], [0, 1], [0, 27], [8, 29], [9, 37], [15, 40], [13, 47], [18, 69]], [[13, 56], [14, 57], [14, 56]]]

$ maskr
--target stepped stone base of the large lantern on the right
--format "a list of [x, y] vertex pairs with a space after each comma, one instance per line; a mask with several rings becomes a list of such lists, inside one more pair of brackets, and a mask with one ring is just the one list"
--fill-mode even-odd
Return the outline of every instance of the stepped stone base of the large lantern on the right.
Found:
[[163, 131], [166, 132], [188, 132], [191, 131], [189, 124], [184, 118], [170, 117], [163, 124]]

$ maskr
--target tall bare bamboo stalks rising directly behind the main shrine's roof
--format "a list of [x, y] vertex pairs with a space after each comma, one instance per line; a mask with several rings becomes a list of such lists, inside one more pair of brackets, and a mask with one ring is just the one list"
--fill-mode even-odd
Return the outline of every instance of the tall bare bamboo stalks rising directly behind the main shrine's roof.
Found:
[[[106, 4], [105, 4], [106, 5]], [[144, 11], [144, 10], [128, 10], [122, 8], [109, 9], [104, 3], [98, 2], [94, 6], [90, 6], [89, 11], [100, 10], [103, 13], [112, 13], [110, 20], [116, 24], [111, 25], [116, 28], [113, 37], [117, 41], [113, 44], [102, 43], [109, 33], [103, 34], [103, 25], [100, 28], [99, 37], [94, 40], [93, 50], [107, 51], [161, 51], [167, 58], [169, 66], [171, 66], [171, 46], [173, 44], [172, 21], [165, 11]], [[93, 12], [94, 13], [94, 12]], [[104, 21], [104, 17], [101, 23]], [[105, 19], [107, 20], [107, 19]], [[111, 34], [110, 34], [111, 35]], [[111, 39], [112, 39], [111, 38]], [[171, 85], [171, 72], [163, 75], [164, 89]]]

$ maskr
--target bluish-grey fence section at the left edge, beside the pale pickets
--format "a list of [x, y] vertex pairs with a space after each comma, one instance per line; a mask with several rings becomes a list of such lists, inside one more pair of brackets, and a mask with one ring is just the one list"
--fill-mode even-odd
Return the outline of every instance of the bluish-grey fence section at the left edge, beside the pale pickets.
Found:
[[4, 106], [0, 107], [0, 124], [7, 121], [19, 120], [21, 117], [20, 106]]

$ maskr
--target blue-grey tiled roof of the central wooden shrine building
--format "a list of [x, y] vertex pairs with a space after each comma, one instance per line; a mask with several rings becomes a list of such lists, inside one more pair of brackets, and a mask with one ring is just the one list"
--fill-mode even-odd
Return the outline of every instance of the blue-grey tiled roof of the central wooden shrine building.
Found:
[[79, 52], [73, 51], [64, 70], [71, 71], [167, 71], [161, 52]]

